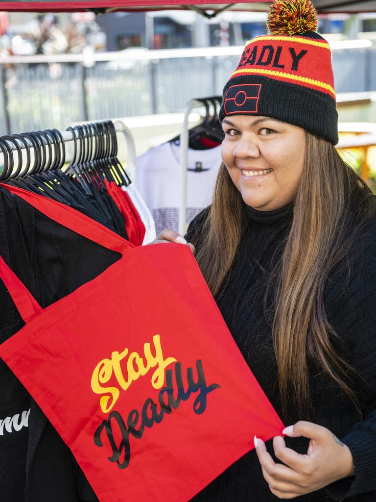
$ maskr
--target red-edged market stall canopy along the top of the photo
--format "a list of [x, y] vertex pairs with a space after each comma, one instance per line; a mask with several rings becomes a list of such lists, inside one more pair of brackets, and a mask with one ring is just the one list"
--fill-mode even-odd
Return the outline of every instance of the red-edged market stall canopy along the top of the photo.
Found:
[[[269, 0], [249, 0], [247, 3], [227, 3], [213, 0], [208, 4], [205, 0], [13, 0], [0, 2], [0, 11], [154, 11], [154, 10], [194, 10], [207, 17], [214, 17], [227, 10], [268, 12]], [[319, 14], [376, 12], [376, 0], [313, 0]]]

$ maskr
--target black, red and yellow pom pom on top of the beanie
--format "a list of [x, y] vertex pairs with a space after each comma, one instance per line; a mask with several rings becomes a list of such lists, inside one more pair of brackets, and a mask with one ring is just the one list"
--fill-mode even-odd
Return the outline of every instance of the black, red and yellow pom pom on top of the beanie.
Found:
[[275, 0], [268, 15], [271, 35], [296, 35], [317, 30], [317, 13], [310, 0]]

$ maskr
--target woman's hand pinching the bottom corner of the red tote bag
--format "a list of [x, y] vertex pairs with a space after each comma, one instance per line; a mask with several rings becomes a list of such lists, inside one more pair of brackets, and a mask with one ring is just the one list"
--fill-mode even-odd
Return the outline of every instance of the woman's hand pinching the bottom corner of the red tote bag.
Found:
[[289, 437], [310, 439], [306, 455], [287, 448], [283, 437], [273, 438], [275, 456], [286, 465], [275, 463], [265, 443], [255, 436], [255, 446], [264, 478], [279, 498], [294, 498], [355, 474], [350, 449], [325, 427], [297, 422], [284, 429]]

